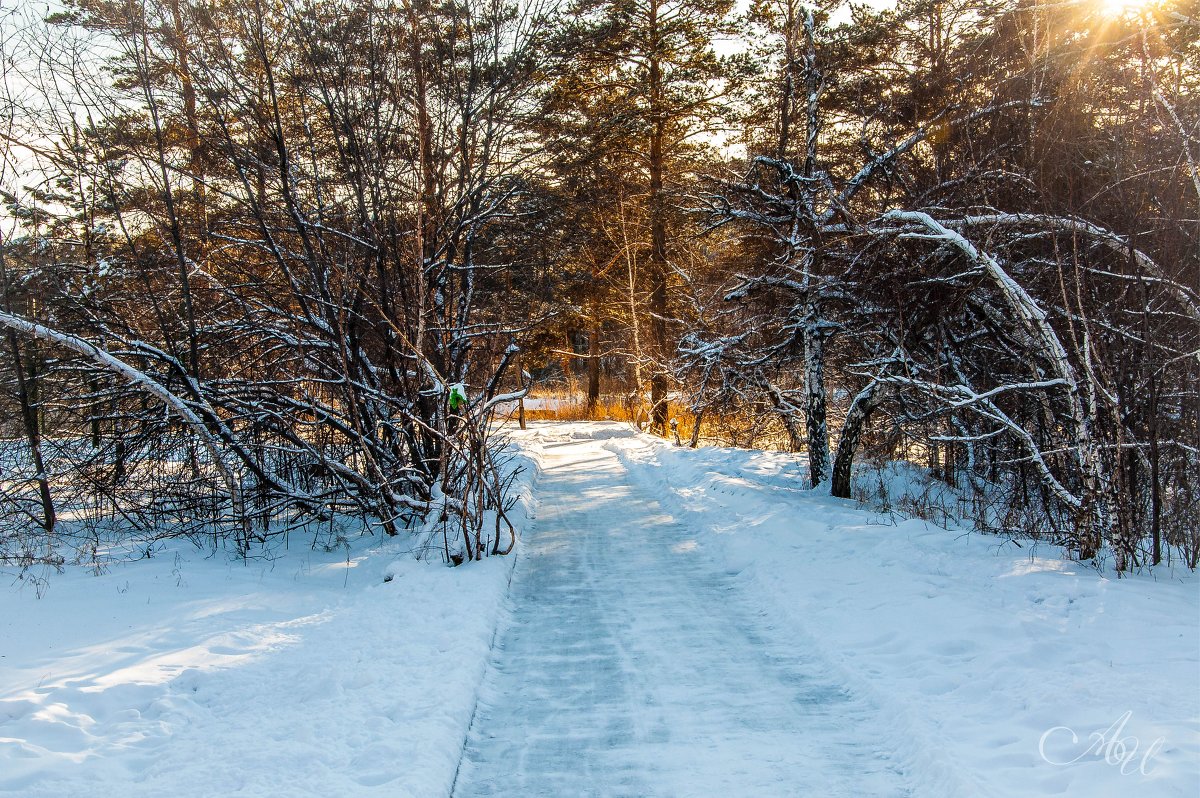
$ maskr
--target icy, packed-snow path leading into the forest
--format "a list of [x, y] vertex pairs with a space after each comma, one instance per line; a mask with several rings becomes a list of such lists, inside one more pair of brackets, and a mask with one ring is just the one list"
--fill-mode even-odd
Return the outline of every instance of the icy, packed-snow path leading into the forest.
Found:
[[454, 794], [908, 794], [871, 706], [599, 439], [546, 442]]

